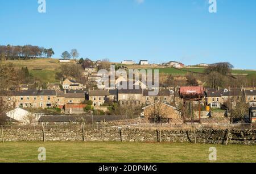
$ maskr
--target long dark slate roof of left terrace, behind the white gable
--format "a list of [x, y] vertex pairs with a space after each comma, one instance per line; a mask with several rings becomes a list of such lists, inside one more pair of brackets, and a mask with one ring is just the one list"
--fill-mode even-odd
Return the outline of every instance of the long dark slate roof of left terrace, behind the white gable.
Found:
[[11, 92], [12, 96], [56, 96], [56, 90], [22, 90]]

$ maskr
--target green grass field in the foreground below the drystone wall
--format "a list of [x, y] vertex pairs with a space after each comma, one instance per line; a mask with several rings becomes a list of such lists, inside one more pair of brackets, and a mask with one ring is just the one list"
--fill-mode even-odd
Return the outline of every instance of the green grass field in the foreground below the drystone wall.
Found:
[[209, 147], [217, 148], [217, 162], [256, 162], [256, 146], [129, 142], [6, 142], [0, 162], [39, 162], [39, 147], [47, 162], [210, 162]]

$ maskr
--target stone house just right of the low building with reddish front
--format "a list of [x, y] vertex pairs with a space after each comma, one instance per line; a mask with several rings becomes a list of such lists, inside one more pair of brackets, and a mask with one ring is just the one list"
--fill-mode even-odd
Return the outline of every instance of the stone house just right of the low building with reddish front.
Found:
[[100, 107], [104, 105], [105, 101], [109, 101], [108, 90], [91, 90], [85, 96], [86, 100], [93, 102], [94, 107]]

